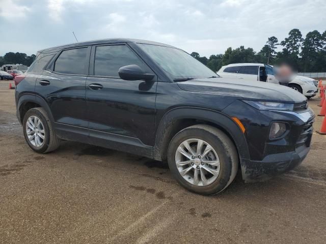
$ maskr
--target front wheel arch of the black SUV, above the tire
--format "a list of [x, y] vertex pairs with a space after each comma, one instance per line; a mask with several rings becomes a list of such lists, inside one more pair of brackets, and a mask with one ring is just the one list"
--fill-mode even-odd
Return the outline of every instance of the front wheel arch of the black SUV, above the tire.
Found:
[[236, 146], [240, 163], [241, 159], [249, 159], [246, 138], [229, 116], [218, 111], [196, 107], [175, 108], [161, 118], [155, 134], [154, 159], [165, 161], [169, 143], [174, 135], [186, 127], [198, 124], [211, 125], [222, 130]]

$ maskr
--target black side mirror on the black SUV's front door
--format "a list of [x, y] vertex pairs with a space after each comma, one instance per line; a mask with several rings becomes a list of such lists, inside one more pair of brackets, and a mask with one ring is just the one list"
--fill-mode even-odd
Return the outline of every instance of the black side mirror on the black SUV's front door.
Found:
[[145, 73], [138, 65], [123, 66], [118, 71], [121, 79], [124, 80], [145, 80], [149, 81], [154, 78], [154, 74]]

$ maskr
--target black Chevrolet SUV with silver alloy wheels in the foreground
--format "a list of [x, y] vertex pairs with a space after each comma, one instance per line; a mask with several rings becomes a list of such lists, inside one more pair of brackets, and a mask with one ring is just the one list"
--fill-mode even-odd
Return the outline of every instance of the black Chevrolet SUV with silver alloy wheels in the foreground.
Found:
[[161, 43], [110, 39], [44, 49], [16, 87], [28, 145], [61, 139], [168, 161], [180, 185], [209, 195], [238, 169], [262, 180], [301, 163], [314, 114], [276, 84], [224, 80]]

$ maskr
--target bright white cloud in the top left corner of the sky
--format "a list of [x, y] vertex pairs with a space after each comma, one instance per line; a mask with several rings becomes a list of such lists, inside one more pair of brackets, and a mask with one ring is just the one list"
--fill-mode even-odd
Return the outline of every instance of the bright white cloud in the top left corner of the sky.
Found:
[[2, 0], [0, 4], [0, 17], [9, 21], [24, 18], [30, 11], [30, 8], [16, 4], [13, 0]]

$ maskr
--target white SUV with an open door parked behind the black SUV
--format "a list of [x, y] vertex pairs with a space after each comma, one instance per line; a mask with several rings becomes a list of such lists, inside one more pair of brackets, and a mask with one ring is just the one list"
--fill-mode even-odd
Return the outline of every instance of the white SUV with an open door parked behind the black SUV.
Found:
[[[223, 66], [218, 75], [225, 78], [236, 78], [250, 81], [263, 81], [279, 84], [274, 76], [273, 67], [264, 64], [243, 63]], [[290, 83], [289, 87], [302, 93], [308, 99], [316, 96], [317, 86], [314, 79], [297, 75]]]

